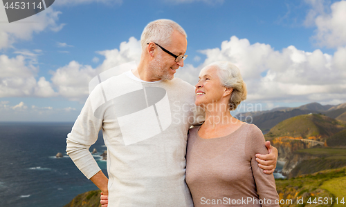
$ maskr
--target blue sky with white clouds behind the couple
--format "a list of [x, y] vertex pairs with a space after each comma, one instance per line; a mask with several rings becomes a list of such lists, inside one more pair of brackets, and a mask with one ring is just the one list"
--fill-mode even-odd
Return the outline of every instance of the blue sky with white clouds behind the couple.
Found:
[[57, 0], [12, 23], [0, 6], [0, 121], [75, 121], [89, 81], [138, 63], [156, 19], [188, 34], [175, 77], [194, 86], [221, 60], [241, 70], [248, 97], [236, 112], [346, 102], [346, 1]]

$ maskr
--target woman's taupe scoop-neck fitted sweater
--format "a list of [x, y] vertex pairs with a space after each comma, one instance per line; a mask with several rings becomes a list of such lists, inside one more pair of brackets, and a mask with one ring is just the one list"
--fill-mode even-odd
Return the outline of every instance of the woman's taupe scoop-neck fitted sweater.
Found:
[[189, 131], [186, 155], [195, 207], [279, 206], [273, 174], [264, 174], [255, 160], [257, 153], [268, 154], [257, 126], [244, 123], [230, 135], [211, 139], [199, 137], [198, 130]]

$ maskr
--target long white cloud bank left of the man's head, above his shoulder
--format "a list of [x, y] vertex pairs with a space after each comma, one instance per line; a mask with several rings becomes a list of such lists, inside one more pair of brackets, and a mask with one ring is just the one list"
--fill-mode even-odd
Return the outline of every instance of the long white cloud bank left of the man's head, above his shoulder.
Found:
[[[51, 71], [51, 82], [45, 77], [35, 79], [37, 54], [28, 50], [15, 53], [17, 57], [0, 55], [0, 97], [54, 97], [62, 96], [73, 101], [84, 101], [89, 95], [89, 81], [104, 70], [122, 63], [139, 61], [140, 41], [131, 37], [120, 43], [119, 49], [97, 52], [104, 61], [96, 68], [71, 61], [68, 65]], [[118, 71], [118, 74], [126, 69]], [[56, 88], [56, 91], [54, 90]]]

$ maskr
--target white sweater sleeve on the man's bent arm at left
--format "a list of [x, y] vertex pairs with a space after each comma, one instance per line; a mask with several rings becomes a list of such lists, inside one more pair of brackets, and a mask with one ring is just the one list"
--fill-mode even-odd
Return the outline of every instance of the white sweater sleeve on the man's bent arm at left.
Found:
[[102, 118], [100, 115], [95, 117], [93, 110], [95, 106], [100, 105], [100, 100], [102, 101], [102, 94], [99, 93], [100, 87], [91, 92], [66, 139], [67, 155], [88, 179], [101, 170], [89, 151], [90, 146], [97, 141], [98, 132], [102, 128]]

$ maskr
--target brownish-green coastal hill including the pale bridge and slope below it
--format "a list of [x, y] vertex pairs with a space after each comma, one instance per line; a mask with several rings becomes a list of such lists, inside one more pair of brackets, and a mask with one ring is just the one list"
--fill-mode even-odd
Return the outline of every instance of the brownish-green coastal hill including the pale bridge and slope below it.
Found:
[[273, 127], [264, 137], [271, 140], [279, 152], [278, 160], [285, 161], [282, 173], [290, 175], [298, 164], [317, 155], [296, 153], [298, 150], [325, 146], [329, 137], [346, 130], [344, 121], [323, 115], [300, 115], [286, 119]]

